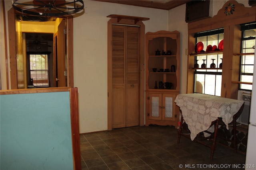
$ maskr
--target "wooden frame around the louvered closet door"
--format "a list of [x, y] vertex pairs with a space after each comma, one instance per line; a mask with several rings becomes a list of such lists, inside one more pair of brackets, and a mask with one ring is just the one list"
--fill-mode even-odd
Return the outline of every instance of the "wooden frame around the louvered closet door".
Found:
[[108, 130], [112, 130], [112, 24], [140, 26], [140, 88], [139, 88], [139, 125], [145, 125], [145, 25], [142, 21], [134, 24], [134, 20], [111, 18], [108, 21]]

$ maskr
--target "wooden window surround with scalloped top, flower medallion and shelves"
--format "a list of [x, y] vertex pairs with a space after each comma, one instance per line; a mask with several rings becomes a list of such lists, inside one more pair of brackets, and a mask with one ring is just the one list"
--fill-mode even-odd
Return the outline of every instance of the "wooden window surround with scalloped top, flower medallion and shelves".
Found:
[[[224, 14], [226, 6], [232, 3], [236, 10], [231, 15]], [[194, 92], [194, 57], [195, 38], [194, 33], [224, 28], [224, 49], [222, 51], [222, 86], [221, 96], [225, 98], [237, 99], [240, 82], [240, 53], [241, 30], [240, 24], [256, 21], [256, 6], [250, 8], [238, 4], [234, 0], [227, 1], [218, 13], [212, 18], [206, 18], [188, 23], [188, 74], [187, 93]], [[196, 54], [198, 55], [198, 54]], [[206, 55], [206, 54], [202, 54]], [[249, 54], [248, 54], [249, 55]]]

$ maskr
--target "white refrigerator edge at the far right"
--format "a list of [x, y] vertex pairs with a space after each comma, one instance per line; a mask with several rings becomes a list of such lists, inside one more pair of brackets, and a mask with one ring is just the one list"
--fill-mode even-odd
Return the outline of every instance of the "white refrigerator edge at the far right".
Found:
[[[256, 44], [256, 43], [255, 43]], [[245, 169], [256, 169], [256, 51], [254, 52], [254, 70], [252, 82], [252, 99], [248, 129]]]

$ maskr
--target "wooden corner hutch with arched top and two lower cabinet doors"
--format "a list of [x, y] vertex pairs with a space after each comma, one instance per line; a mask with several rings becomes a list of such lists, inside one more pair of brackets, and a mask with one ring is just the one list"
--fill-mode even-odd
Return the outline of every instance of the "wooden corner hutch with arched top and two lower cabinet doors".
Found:
[[[156, 54], [160, 51], [160, 54]], [[162, 55], [162, 51], [171, 54]], [[174, 67], [174, 71], [171, 67]], [[180, 32], [146, 33], [146, 125], [178, 127], [179, 109], [174, 103], [180, 93]], [[153, 68], [157, 68], [154, 72]], [[160, 72], [160, 69], [169, 69]], [[170, 84], [160, 88], [159, 82]]]

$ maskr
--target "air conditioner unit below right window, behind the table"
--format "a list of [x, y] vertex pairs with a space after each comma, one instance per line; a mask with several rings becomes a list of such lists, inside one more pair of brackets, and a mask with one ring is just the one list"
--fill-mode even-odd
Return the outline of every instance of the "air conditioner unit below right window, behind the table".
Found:
[[251, 92], [239, 90], [238, 100], [244, 100], [244, 109], [240, 117], [238, 117], [236, 121], [243, 125], [248, 125], [249, 117], [250, 117], [250, 107], [251, 107]]

